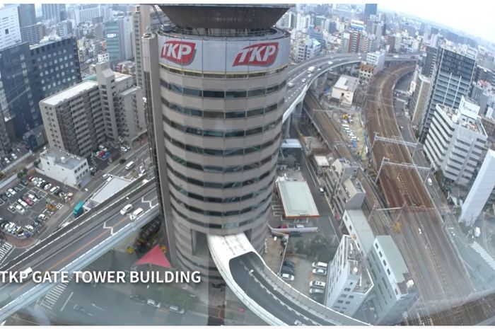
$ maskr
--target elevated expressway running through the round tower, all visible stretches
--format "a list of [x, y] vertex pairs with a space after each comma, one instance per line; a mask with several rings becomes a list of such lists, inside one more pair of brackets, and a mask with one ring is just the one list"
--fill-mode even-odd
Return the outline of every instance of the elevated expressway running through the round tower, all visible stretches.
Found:
[[[388, 58], [392, 61], [410, 59], [411, 55]], [[359, 54], [334, 54], [311, 59], [290, 68], [287, 81], [294, 86], [287, 88], [284, 121], [290, 117], [296, 106], [303, 102], [306, 91], [315, 79], [330, 69], [360, 61]], [[308, 79], [308, 67], [311, 66], [320, 67], [320, 70], [315, 70], [313, 76]], [[308, 81], [303, 82], [303, 79]], [[131, 221], [128, 215], [122, 216], [119, 212], [129, 203], [133, 204], [134, 208], [144, 209], [144, 214], [136, 221]], [[16, 258], [6, 261], [0, 271], [22, 271], [28, 267], [43, 272], [81, 270], [111, 250], [116, 243], [139, 231], [158, 214], [154, 179], [146, 182], [141, 178], [104, 204], [55, 231]], [[291, 288], [269, 270], [244, 234], [209, 236], [208, 243], [211, 255], [229, 287], [267, 323], [293, 325], [300, 321], [308, 325], [366, 325], [326, 308]], [[0, 322], [32, 304], [55, 285], [56, 282], [2, 283]]]

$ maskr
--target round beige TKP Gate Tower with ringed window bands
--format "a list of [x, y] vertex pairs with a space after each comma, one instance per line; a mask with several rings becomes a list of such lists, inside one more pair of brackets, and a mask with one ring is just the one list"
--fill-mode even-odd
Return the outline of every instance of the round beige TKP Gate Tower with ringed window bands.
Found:
[[175, 266], [221, 279], [208, 234], [264, 249], [290, 50], [273, 26], [288, 6], [161, 9], [174, 26], [143, 38], [143, 64], [168, 250]]

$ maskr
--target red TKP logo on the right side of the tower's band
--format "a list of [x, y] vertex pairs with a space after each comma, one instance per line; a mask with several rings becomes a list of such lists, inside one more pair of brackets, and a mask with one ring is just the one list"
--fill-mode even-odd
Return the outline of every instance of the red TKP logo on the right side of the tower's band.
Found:
[[257, 43], [244, 47], [234, 59], [233, 67], [238, 65], [272, 65], [276, 59], [276, 53], [279, 51], [277, 42]]

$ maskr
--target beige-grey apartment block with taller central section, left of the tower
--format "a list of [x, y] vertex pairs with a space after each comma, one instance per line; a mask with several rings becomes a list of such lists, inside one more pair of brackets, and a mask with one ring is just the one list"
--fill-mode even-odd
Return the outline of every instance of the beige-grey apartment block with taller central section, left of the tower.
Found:
[[83, 81], [40, 101], [48, 144], [89, 156], [100, 144], [130, 145], [146, 132], [141, 88], [132, 76], [95, 64], [96, 80]]

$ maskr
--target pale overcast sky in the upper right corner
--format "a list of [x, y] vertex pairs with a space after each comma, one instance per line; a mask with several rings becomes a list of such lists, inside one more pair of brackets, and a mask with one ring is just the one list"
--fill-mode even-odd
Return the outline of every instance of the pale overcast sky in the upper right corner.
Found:
[[493, 0], [376, 1], [378, 10], [383, 8], [410, 13], [495, 42], [495, 1]]

